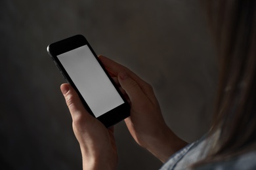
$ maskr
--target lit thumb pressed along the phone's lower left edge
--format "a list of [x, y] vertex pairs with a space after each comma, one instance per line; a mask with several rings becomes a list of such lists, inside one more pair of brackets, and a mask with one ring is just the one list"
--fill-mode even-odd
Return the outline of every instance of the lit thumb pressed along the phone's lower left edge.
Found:
[[75, 124], [91, 118], [91, 115], [85, 110], [77, 93], [70, 84], [62, 84], [60, 90], [66, 99], [66, 104]]

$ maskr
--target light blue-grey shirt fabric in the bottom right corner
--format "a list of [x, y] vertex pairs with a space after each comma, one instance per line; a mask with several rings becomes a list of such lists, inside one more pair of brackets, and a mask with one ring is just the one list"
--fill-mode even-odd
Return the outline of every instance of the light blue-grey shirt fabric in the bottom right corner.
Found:
[[[214, 137], [211, 137], [211, 139], [212, 140], [207, 140], [205, 135], [202, 139], [188, 144], [173, 154], [160, 170], [191, 169], [190, 165], [207, 156], [209, 147], [214, 143]], [[208, 163], [196, 169], [256, 169], [256, 151], [247, 152], [246, 154], [230, 158], [229, 160]]]

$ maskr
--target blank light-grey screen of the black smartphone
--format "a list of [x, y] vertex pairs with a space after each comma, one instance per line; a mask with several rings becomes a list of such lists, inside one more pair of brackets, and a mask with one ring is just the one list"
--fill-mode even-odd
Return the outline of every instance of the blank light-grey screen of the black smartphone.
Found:
[[96, 118], [125, 103], [89, 46], [75, 48], [57, 58]]

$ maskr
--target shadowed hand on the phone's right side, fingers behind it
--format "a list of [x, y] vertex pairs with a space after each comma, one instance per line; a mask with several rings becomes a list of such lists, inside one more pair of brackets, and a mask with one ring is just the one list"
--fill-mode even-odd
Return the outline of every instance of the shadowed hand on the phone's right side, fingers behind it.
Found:
[[167, 161], [187, 143], [165, 124], [152, 87], [123, 65], [104, 56], [99, 58], [131, 104], [131, 116], [125, 119], [131, 135], [162, 162]]

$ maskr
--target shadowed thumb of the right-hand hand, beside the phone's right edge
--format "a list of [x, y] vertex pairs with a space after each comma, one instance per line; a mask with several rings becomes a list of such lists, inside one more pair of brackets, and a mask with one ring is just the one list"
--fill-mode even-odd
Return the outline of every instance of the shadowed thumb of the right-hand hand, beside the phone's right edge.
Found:
[[127, 73], [121, 72], [118, 74], [118, 81], [129, 96], [131, 103], [139, 103], [141, 101], [145, 101], [147, 99], [144, 92], [141, 90], [139, 84], [135, 82]]

